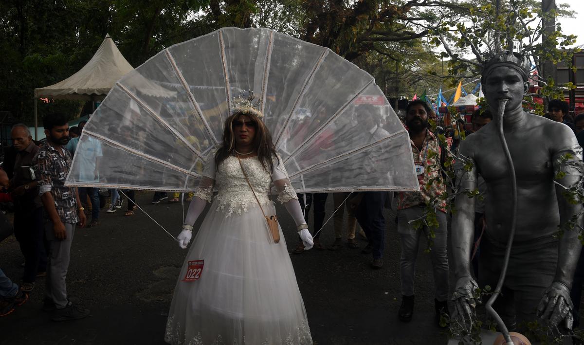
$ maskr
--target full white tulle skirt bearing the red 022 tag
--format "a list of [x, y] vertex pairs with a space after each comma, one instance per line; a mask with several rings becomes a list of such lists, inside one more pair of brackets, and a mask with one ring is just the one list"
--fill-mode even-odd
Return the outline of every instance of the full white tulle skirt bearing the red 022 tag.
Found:
[[[200, 278], [183, 281], [194, 260], [204, 260]], [[211, 205], [180, 270], [165, 341], [312, 344], [286, 241], [281, 229], [272, 241], [258, 207], [225, 217]]]

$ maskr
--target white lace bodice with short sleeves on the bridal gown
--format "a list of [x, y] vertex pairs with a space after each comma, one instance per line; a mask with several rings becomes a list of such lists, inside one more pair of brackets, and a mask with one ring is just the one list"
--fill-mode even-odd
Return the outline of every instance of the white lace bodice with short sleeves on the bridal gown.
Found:
[[[262, 163], [260, 163], [257, 157], [241, 159], [249, 183], [253, 187], [253, 190], [255, 191], [260, 204], [264, 207], [265, 212], [267, 212], [265, 206], [270, 205], [268, 193], [270, 191], [272, 179], [274, 180], [276, 189], [279, 191], [277, 201], [280, 203], [286, 203], [297, 198], [296, 192], [290, 185], [288, 174], [286, 173], [286, 169], [284, 168], [281, 159], [279, 160], [280, 163], [278, 163], [278, 159], [274, 157], [273, 162], [274, 172], [270, 179], [270, 173], [263, 168]], [[214, 171], [214, 167], [214, 159], [210, 159], [203, 175], [208, 177], [208, 179], [213, 180], [214, 187], [218, 190], [214, 203], [218, 204], [218, 210], [223, 212], [225, 217], [229, 217], [234, 213], [242, 214], [247, 212], [249, 207], [258, 207], [258, 202], [245, 180], [245, 176], [241, 171], [241, 166], [239, 166], [237, 157], [229, 156], [226, 158], [219, 164], [217, 172]], [[213, 184], [210, 181], [208, 183], [203, 181], [199, 188], [194, 191], [195, 196], [208, 201], [212, 200], [212, 193]]]

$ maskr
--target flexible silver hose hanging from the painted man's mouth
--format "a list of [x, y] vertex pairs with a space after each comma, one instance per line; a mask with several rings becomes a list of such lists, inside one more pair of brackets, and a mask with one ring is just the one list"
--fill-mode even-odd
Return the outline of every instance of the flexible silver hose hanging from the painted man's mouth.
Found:
[[509, 266], [509, 256], [511, 255], [511, 247], [513, 245], [513, 238], [515, 237], [515, 223], [517, 221], [517, 180], [515, 177], [515, 166], [513, 166], [513, 161], [511, 159], [511, 154], [509, 152], [509, 147], [507, 147], [507, 141], [505, 140], [505, 134], [503, 133], [503, 115], [505, 114], [505, 104], [507, 104], [508, 99], [499, 99], [499, 111], [498, 111], [498, 128], [499, 128], [499, 140], [501, 141], [501, 146], [503, 147], [503, 152], [505, 153], [505, 158], [507, 159], [507, 165], [509, 165], [509, 177], [511, 178], [511, 193], [512, 193], [512, 207], [511, 207], [511, 229], [509, 232], [509, 239], [507, 240], [507, 248], [505, 249], [505, 260], [503, 261], [503, 267], [501, 274], [499, 276], [499, 281], [497, 282], [497, 287], [495, 292], [486, 302], [486, 311], [495, 319], [499, 325], [503, 337], [507, 345], [513, 345], [513, 340], [507, 330], [507, 326], [499, 316], [499, 314], [493, 309], [493, 303], [499, 294], [501, 293], [501, 288], [503, 287], [503, 282], [505, 281], [505, 275], [507, 274], [507, 266]]

